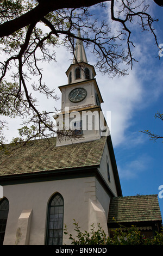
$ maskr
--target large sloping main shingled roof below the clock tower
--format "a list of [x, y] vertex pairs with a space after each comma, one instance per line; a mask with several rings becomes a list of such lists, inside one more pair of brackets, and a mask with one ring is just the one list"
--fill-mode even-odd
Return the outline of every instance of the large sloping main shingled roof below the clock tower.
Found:
[[14, 144], [0, 150], [0, 176], [98, 166], [106, 137], [96, 141], [55, 147], [56, 137]]

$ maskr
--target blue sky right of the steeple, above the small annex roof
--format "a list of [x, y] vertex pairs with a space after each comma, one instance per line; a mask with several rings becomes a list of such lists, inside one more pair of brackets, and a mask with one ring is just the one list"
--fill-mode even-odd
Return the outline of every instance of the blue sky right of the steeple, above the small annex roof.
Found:
[[[163, 8], [153, 3], [151, 11], [159, 19], [159, 22], [155, 24], [155, 32], [158, 35], [159, 44], [162, 44]], [[161, 120], [154, 118], [155, 113], [162, 113], [163, 57], [156, 58], [158, 50], [154, 45], [151, 34], [141, 33], [140, 36], [140, 33], [138, 34], [136, 31], [133, 38], [138, 48], [138, 51], [135, 49], [135, 52], [139, 57], [139, 63], [134, 64], [133, 70], [130, 70], [128, 76], [115, 78], [111, 81], [111, 87], [113, 88], [117, 86], [117, 83], [122, 86], [120, 91], [112, 96], [112, 100], [120, 100], [118, 103], [122, 108], [124, 122], [120, 122], [117, 113], [115, 113], [117, 119], [112, 117], [114, 123], [111, 123], [111, 136], [113, 145], [115, 145], [114, 150], [123, 196], [159, 194], [160, 190], [158, 188], [163, 185], [162, 140], [160, 139], [154, 143], [149, 141], [148, 135], [140, 132], [140, 130], [148, 129], [156, 134], [163, 134], [163, 123], [161, 123]], [[129, 86], [126, 86], [126, 83], [129, 83]], [[126, 92], [122, 96], [123, 87]], [[106, 94], [103, 94], [103, 98], [104, 101], [107, 100]], [[128, 107], [124, 106], [124, 101], [129, 105]], [[116, 109], [116, 103], [114, 102], [110, 107], [112, 108], [112, 116], [118, 109]], [[114, 126], [121, 125], [120, 123], [122, 124], [122, 130], [120, 127], [118, 136], [117, 133], [114, 134]], [[158, 199], [163, 216], [163, 198]]]

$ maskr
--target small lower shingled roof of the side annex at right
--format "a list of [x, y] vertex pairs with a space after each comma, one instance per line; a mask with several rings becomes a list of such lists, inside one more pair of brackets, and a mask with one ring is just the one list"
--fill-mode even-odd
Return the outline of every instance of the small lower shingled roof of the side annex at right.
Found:
[[161, 221], [158, 196], [114, 197], [110, 200], [108, 223]]

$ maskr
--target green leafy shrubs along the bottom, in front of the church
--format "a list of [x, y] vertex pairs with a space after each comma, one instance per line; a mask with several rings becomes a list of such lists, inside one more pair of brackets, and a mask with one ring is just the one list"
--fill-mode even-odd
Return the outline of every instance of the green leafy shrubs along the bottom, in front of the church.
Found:
[[163, 233], [156, 232], [154, 237], [146, 237], [134, 225], [127, 232], [122, 231], [120, 226], [120, 229], [114, 230], [114, 236], [110, 238], [105, 234], [100, 224], [98, 224], [97, 230], [95, 230], [94, 225], [91, 225], [90, 233], [87, 231], [82, 233], [75, 220], [73, 224], [77, 233], [75, 238], [68, 233], [66, 225], [64, 231], [65, 235], [68, 235], [72, 241], [71, 245], [163, 245]]

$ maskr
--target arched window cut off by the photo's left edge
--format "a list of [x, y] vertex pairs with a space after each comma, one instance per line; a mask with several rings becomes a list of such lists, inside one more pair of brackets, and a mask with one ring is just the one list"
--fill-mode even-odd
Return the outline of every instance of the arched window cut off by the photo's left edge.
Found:
[[8, 213], [9, 213], [9, 201], [7, 198], [3, 198], [0, 200], [0, 245], [3, 245]]

